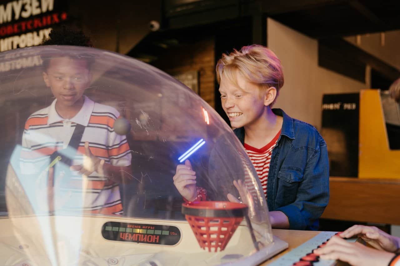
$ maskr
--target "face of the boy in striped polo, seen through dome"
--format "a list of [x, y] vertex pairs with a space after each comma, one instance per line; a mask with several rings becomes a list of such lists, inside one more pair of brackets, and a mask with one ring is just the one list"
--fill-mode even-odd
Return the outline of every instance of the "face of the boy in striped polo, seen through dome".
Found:
[[66, 56], [52, 58], [43, 79], [56, 97], [57, 105], [71, 107], [81, 99], [92, 78], [85, 60]]

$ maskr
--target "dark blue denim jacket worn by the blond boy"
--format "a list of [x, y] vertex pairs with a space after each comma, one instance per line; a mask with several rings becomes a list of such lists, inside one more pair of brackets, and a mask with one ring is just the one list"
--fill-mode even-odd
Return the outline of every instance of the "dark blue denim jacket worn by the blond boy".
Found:
[[[268, 210], [289, 218], [290, 229], [318, 230], [318, 218], [329, 201], [329, 162], [326, 143], [308, 123], [283, 117], [278, 144], [272, 150], [267, 181]], [[234, 133], [244, 144], [244, 128]]]

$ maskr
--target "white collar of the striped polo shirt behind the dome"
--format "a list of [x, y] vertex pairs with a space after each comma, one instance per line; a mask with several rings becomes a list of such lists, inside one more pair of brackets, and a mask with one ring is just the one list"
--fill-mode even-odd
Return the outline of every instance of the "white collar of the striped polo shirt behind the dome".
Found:
[[[94, 108], [94, 101], [89, 99], [89, 97], [87, 97], [86, 95], [83, 95], [83, 97], [84, 97], [84, 102], [83, 102], [82, 108], [79, 110], [79, 112], [74, 117], [72, 117], [69, 120], [71, 122], [74, 122], [74, 123], [77, 123], [80, 125], [84, 125], [86, 127], [89, 123], [90, 116], [92, 115], [92, 111]], [[57, 99], [55, 99], [52, 102], [52, 104], [50, 105], [50, 110], [49, 110], [48, 120], [47, 120], [48, 125], [66, 120], [57, 113], [56, 102], [57, 102]]]

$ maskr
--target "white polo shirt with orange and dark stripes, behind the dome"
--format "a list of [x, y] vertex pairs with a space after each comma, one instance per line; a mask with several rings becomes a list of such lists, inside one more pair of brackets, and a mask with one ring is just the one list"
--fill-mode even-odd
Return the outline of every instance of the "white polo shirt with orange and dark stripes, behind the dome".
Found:
[[[54, 151], [65, 149], [76, 124], [85, 130], [73, 158], [72, 165], [82, 165], [84, 144], [89, 143], [92, 154], [115, 166], [129, 166], [131, 154], [126, 136], [114, 132], [114, 121], [120, 116], [113, 107], [95, 103], [87, 96], [80, 111], [71, 119], [63, 119], [52, 104], [28, 118], [22, 137], [20, 158], [21, 172], [26, 175], [40, 174], [50, 163]], [[69, 147], [70, 148], [70, 147]], [[62, 210], [98, 214], [122, 214], [122, 202], [118, 184], [94, 172], [87, 178], [78, 172], [63, 177], [60, 193], [72, 192]], [[56, 177], [55, 177], [56, 178]], [[66, 182], [64, 182], [66, 181]]]

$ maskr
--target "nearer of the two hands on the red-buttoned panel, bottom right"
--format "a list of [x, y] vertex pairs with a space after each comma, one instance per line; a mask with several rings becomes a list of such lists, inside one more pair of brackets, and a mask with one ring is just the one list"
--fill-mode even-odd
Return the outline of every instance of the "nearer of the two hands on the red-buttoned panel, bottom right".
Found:
[[341, 260], [362, 266], [386, 266], [394, 256], [393, 253], [368, 248], [357, 242], [347, 242], [338, 236], [333, 236], [326, 246], [317, 248], [314, 253], [323, 260]]

